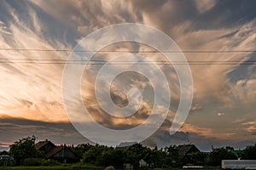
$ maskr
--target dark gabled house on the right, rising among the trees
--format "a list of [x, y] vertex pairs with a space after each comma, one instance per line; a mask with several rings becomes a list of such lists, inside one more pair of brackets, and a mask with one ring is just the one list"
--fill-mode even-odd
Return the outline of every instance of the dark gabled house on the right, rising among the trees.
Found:
[[194, 144], [183, 144], [177, 146], [178, 158], [183, 164], [193, 163], [189, 156], [191, 153], [200, 152]]

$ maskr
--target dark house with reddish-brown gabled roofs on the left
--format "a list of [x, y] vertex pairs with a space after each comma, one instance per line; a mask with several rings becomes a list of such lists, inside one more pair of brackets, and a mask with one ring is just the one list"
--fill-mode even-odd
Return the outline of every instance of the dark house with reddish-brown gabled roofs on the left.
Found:
[[36, 149], [43, 151], [46, 159], [52, 159], [63, 163], [71, 163], [79, 161], [79, 156], [73, 152], [66, 144], [56, 146], [49, 140], [40, 141], [36, 145]]

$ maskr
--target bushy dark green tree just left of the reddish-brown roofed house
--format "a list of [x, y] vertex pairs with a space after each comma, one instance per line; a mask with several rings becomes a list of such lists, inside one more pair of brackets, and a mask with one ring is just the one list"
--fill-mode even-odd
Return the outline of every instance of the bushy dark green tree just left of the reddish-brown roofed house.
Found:
[[36, 137], [26, 137], [15, 141], [11, 144], [9, 153], [15, 158], [16, 164], [20, 165], [20, 161], [27, 158], [43, 158], [43, 152], [36, 150], [35, 147]]

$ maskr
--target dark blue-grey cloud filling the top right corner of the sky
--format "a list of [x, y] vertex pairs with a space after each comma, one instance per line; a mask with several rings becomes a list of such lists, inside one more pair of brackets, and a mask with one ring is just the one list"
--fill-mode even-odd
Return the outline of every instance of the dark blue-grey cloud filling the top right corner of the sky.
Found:
[[[131, 1], [134, 8], [141, 13], [147, 13], [148, 19], [167, 33], [186, 21], [192, 23], [186, 31], [198, 31], [241, 26], [255, 19], [256, 2], [253, 0], [213, 0], [212, 2], [215, 2], [212, 8], [200, 13], [195, 1]], [[172, 37], [175, 37], [175, 32], [172, 32]]]

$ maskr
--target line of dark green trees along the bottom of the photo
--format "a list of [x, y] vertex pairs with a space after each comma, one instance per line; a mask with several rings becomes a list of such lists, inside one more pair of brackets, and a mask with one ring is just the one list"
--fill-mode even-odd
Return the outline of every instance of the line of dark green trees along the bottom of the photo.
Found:
[[[15, 160], [15, 165], [55, 165], [55, 160], [45, 160], [44, 153], [35, 148], [36, 138], [34, 136], [19, 139], [10, 145], [9, 155]], [[183, 161], [180, 159], [177, 146], [170, 145], [158, 149], [148, 148], [142, 144], [133, 144], [130, 147], [109, 147], [100, 144], [79, 144], [67, 146], [79, 156], [80, 161], [97, 166], [123, 167], [129, 163], [134, 169], [142, 167], [181, 167]], [[220, 166], [221, 160], [256, 159], [256, 144], [247, 146], [245, 150], [237, 152], [234, 148], [227, 146], [212, 149], [210, 152], [189, 153], [189, 159], [194, 165]], [[1, 163], [1, 161], [0, 161]], [[146, 163], [146, 164], [145, 164]], [[1, 165], [1, 164], [0, 164]]]

